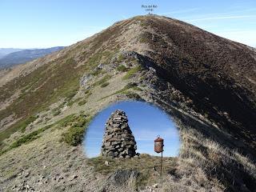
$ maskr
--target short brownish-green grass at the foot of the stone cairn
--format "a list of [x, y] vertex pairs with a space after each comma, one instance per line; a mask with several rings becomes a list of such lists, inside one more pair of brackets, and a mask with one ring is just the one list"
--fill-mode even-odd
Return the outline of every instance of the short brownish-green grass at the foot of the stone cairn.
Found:
[[[160, 157], [149, 154], [141, 154], [138, 158], [105, 158], [97, 157], [88, 159], [88, 164], [94, 166], [94, 170], [101, 174], [112, 174], [115, 170], [137, 170], [138, 178], [130, 178], [130, 186], [143, 187], [153, 185], [160, 173]], [[108, 162], [109, 165], [106, 165]], [[177, 166], [177, 158], [163, 158], [162, 175], [166, 177], [174, 172]]]

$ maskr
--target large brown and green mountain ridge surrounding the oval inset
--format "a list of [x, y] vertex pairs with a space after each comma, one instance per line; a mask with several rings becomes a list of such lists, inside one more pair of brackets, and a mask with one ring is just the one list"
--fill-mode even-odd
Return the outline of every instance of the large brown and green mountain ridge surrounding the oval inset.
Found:
[[[180, 130], [159, 191], [254, 191], [255, 72], [254, 49], [158, 15], [1, 70], [0, 186], [22, 185], [27, 172], [34, 190], [116, 189], [88, 165], [78, 135], [110, 103], [136, 99], [160, 106]], [[31, 177], [39, 174], [47, 184]]]

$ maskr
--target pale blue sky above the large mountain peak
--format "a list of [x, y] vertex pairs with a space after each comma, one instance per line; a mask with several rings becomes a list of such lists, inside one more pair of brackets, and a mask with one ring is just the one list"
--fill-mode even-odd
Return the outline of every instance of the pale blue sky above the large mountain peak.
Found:
[[0, 47], [69, 46], [151, 4], [154, 14], [256, 46], [255, 0], [0, 0]]

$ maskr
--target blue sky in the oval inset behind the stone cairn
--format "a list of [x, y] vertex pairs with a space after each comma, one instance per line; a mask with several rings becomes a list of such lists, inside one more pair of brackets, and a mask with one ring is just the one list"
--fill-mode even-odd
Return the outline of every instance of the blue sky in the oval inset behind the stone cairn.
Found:
[[88, 127], [83, 142], [87, 157], [92, 158], [100, 154], [105, 123], [114, 110], [126, 112], [130, 130], [137, 142], [138, 153], [159, 156], [160, 154], [154, 152], [154, 139], [159, 134], [164, 138], [163, 156], [178, 155], [180, 146], [178, 129], [165, 112], [146, 102], [118, 102], [102, 110]]

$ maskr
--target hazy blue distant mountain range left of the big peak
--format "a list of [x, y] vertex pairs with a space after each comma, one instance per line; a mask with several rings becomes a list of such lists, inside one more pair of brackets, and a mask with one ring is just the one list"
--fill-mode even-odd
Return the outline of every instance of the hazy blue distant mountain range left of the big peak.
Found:
[[62, 50], [65, 46], [54, 46], [47, 49], [0, 49], [0, 69], [9, 68], [21, 63], [30, 62], [35, 58], [41, 58], [46, 54]]

